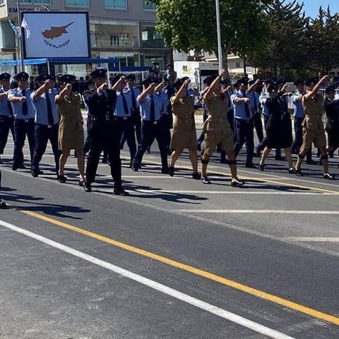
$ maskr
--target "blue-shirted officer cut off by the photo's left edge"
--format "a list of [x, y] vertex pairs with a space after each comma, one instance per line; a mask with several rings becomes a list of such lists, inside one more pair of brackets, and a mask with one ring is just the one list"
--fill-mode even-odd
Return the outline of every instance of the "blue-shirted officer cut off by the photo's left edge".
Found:
[[[8, 133], [11, 130], [14, 141], [14, 129], [13, 129], [13, 109], [11, 102], [7, 100], [7, 94], [10, 86], [9, 79], [11, 74], [2, 73], [0, 75], [1, 88], [0, 88], [0, 155], [4, 154], [4, 148], [6, 147]], [[0, 157], [0, 164], [2, 163]]]

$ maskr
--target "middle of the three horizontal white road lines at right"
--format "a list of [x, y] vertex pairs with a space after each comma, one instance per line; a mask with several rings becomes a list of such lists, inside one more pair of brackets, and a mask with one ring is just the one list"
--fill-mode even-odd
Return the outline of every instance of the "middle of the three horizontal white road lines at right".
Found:
[[339, 210], [186, 210], [179, 209], [182, 213], [256, 213], [256, 214], [319, 214], [319, 215], [339, 215]]

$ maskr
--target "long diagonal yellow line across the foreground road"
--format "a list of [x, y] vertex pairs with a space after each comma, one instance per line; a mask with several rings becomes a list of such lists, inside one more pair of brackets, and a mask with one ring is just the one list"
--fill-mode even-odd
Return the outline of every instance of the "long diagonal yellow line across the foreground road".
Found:
[[152, 258], [155, 261], [159, 261], [160, 263], [165, 263], [169, 266], [179, 268], [181, 270], [185, 270], [186, 272], [193, 273], [195, 275], [199, 275], [203, 278], [213, 280], [217, 283], [220, 283], [222, 285], [225, 285], [227, 287], [232, 287], [236, 290], [248, 293], [249, 295], [254, 295], [255, 297], [259, 297], [265, 300], [268, 300], [270, 302], [274, 302], [275, 304], [280, 304], [284, 307], [288, 307], [290, 309], [294, 309], [295, 311], [299, 311], [303, 314], [307, 314], [308, 316], [312, 316], [317, 319], [321, 319], [323, 321], [328, 321], [329, 323], [333, 323], [335, 325], [339, 326], [339, 318], [336, 316], [333, 316], [331, 314], [325, 314], [321, 311], [316, 311], [315, 309], [311, 309], [309, 307], [305, 307], [301, 304], [297, 304], [295, 302], [291, 302], [290, 300], [283, 299], [280, 297], [277, 297], [275, 295], [270, 295], [269, 293], [263, 292], [261, 290], [256, 290], [253, 287], [249, 287], [240, 283], [237, 283], [233, 280], [223, 278], [220, 275], [216, 275], [213, 273], [210, 273], [206, 270], [201, 270], [199, 268], [195, 268], [193, 266], [186, 265], [185, 263], [180, 263], [179, 261], [174, 261], [170, 258], [166, 258], [165, 256], [160, 256], [158, 254], [154, 254], [149, 251], [145, 251], [143, 249], [139, 249], [138, 247], [131, 246], [129, 244], [124, 244], [123, 242], [118, 242], [117, 240], [104, 237], [100, 234], [90, 232], [88, 230], [83, 230], [82, 228], [66, 224], [66, 222], [61, 222], [59, 220], [55, 220], [53, 218], [46, 217], [44, 215], [40, 215], [39, 213], [32, 212], [30, 210], [21, 210], [22, 213], [25, 213], [26, 215], [30, 215], [34, 218], [44, 220], [46, 222], [50, 222], [54, 225], [63, 227], [67, 230], [71, 230], [73, 232], [77, 232], [79, 234], [83, 234], [87, 237], [91, 237], [93, 239], [100, 240], [100, 242], [105, 242], [107, 244], [111, 244], [113, 246], [117, 246], [121, 249], [125, 249], [126, 251], [133, 252], [135, 254], [140, 254], [141, 256], [145, 256], [147, 258]]

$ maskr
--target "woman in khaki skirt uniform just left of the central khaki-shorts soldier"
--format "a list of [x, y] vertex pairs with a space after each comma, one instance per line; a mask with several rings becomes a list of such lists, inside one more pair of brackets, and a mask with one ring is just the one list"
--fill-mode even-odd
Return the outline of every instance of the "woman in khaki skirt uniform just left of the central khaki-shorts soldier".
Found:
[[194, 97], [186, 96], [189, 80], [184, 78], [174, 83], [175, 95], [170, 98], [174, 113], [173, 135], [169, 148], [174, 150], [169, 162], [169, 175], [174, 175], [174, 164], [182, 155], [184, 148], [189, 149], [193, 168], [193, 179], [201, 179], [198, 173], [198, 155], [196, 143], [196, 124], [194, 121]]

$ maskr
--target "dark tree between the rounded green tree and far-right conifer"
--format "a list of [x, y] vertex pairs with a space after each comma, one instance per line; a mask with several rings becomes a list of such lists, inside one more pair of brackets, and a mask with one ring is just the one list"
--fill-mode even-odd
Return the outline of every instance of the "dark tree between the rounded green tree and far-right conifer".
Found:
[[307, 56], [307, 27], [304, 4], [297, 0], [274, 0], [266, 6], [266, 35], [268, 44], [249, 52], [249, 63], [256, 67], [270, 67], [277, 73], [304, 67]]

